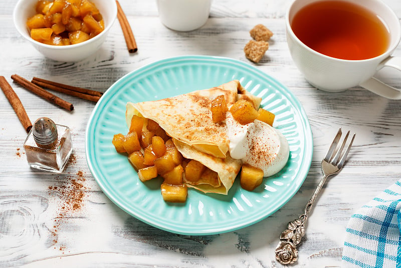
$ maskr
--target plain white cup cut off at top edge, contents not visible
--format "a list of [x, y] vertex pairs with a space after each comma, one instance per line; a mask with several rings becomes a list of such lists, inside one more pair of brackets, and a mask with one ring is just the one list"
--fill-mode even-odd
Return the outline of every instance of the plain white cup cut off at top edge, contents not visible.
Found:
[[169, 29], [187, 32], [208, 20], [212, 0], [156, 0], [160, 21]]

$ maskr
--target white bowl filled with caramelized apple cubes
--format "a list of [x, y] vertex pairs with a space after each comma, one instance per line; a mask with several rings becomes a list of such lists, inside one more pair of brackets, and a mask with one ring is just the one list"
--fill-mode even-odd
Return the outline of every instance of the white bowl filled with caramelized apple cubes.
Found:
[[76, 62], [94, 54], [117, 18], [114, 0], [19, 0], [18, 32], [45, 57]]

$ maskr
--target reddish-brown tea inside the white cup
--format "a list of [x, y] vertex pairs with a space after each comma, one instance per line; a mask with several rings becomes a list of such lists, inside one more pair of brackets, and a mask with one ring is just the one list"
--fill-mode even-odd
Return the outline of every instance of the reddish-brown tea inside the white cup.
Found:
[[390, 42], [386, 26], [375, 14], [345, 1], [309, 4], [295, 14], [291, 28], [311, 49], [344, 60], [374, 58]]

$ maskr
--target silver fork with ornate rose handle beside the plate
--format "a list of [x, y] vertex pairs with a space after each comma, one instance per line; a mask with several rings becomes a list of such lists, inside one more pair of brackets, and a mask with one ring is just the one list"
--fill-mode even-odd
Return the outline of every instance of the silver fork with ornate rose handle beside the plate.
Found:
[[[351, 141], [345, 148], [344, 146], [348, 140], [349, 130], [345, 135], [343, 142], [341, 143], [340, 147], [337, 149], [338, 142], [341, 138], [341, 127], [338, 129], [337, 135], [335, 136], [329, 150], [327, 151], [326, 156], [322, 160], [321, 168], [323, 172], [323, 177], [320, 180], [318, 186], [316, 187], [315, 192], [313, 193], [311, 199], [305, 206], [304, 213], [299, 216], [298, 219], [295, 219], [288, 223], [287, 229], [283, 231], [280, 235], [280, 242], [276, 247], [276, 259], [281, 264], [294, 264], [298, 259], [298, 249], [297, 244], [301, 242], [302, 237], [305, 235], [305, 223], [308, 219], [308, 213], [310, 212], [313, 203], [317, 195], [319, 194], [320, 190], [323, 188], [326, 179], [338, 173], [347, 158], [349, 150], [351, 149], [352, 142], [355, 138], [355, 133], [352, 136]], [[341, 156], [341, 158], [340, 158]]]

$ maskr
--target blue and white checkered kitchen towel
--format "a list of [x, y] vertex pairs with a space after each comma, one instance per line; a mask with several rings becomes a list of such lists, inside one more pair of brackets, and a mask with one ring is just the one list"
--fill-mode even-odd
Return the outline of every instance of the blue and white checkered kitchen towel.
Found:
[[401, 267], [401, 180], [351, 216], [342, 267]]

